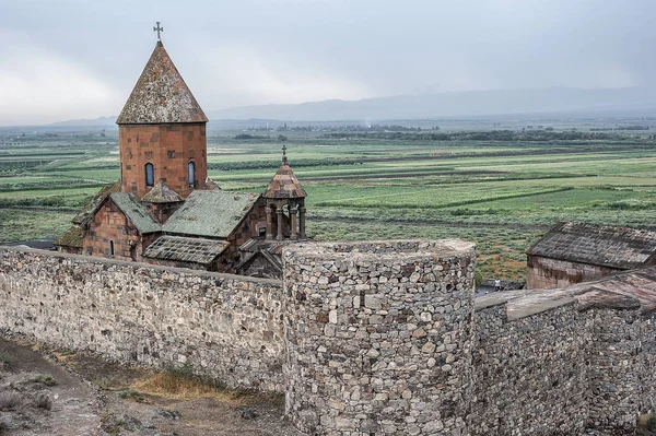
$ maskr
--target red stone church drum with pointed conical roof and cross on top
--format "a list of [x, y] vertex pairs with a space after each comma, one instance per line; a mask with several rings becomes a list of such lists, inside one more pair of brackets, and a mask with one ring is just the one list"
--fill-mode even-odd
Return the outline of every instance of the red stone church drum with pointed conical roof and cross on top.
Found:
[[142, 199], [164, 184], [186, 199], [204, 189], [208, 118], [160, 38], [118, 116], [120, 188]]

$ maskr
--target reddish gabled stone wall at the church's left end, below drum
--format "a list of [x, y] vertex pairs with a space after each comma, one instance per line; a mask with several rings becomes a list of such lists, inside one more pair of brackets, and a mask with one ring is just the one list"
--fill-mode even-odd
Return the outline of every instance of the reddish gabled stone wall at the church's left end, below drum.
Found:
[[89, 256], [141, 261], [143, 249], [157, 236], [159, 233], [141, 235], [120, 209], [112, 200], [107, 200], [89, 223], [82, 252]]

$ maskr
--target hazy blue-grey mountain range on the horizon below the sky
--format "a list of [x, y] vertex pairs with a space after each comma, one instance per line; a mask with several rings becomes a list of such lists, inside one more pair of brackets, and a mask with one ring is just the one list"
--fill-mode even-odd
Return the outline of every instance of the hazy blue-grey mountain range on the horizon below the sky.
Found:
[[[208, 111], [210, 120], [286, 121], [394, 120], [501, 115], [656, 115], [656, 90], [644, 87], [470, 91], [398, 95], [359, 101], [241, 106]], [[116, 117], [70, 120], [51, 126], [114, 126]]]

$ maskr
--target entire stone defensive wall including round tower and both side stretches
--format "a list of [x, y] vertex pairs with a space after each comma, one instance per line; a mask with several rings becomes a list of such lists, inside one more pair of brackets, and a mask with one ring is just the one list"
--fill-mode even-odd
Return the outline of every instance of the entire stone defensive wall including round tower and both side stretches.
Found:
[[656, 408], [656, 270], [475, 299], [460, 240], [283, 260], [280, 282], [0, 248], [0, 328], [285, 392], [311, 435], [621, 435]]

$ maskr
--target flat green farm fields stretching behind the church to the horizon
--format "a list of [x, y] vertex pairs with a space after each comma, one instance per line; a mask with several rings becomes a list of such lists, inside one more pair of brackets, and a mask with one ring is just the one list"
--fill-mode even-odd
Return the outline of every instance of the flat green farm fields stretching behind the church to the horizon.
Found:
[[[210, 177], [226, 190], [261, 192], [282, 142], [238, 133], [208, 135]], [[649, 134], [285, 135], [317, 240], [464, 238], [477, 243], [479, 275], [524, 279], [524, 250], [558, 221], [656, 227]], [[116, 131], [0, 130], [0, 241], [58, 236], [118, 178]]]

